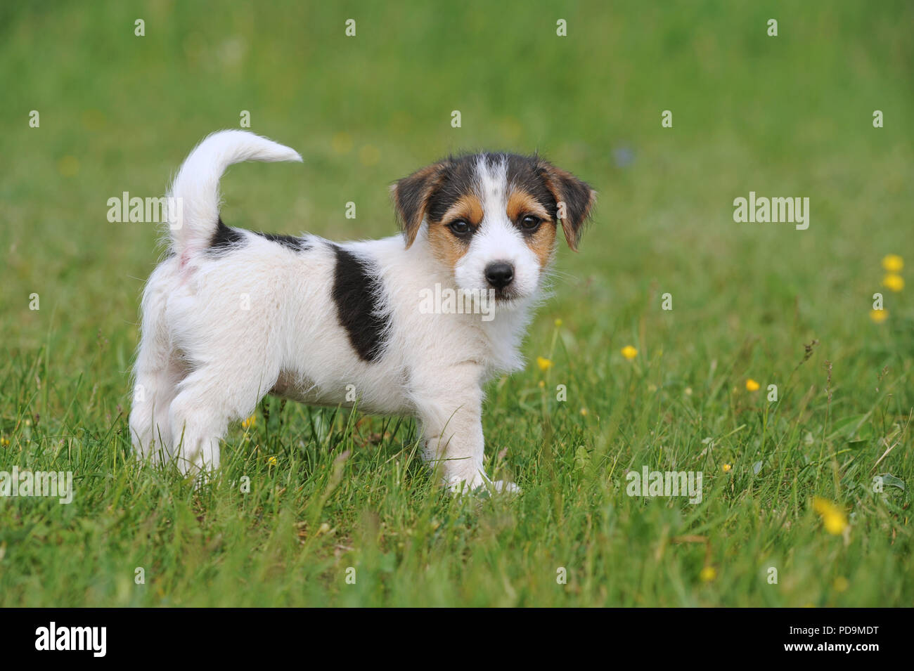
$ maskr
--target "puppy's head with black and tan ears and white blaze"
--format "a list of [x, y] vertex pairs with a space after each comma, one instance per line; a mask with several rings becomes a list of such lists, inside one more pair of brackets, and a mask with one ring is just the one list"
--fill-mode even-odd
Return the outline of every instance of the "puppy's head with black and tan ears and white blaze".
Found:
[[448, 158], [393, 186], [407, 246], [428, 225], [432, 254], [467, 292], [532, 296], [555, 254], [558, 225], [577, 250], [595, 192], [537, 156]]

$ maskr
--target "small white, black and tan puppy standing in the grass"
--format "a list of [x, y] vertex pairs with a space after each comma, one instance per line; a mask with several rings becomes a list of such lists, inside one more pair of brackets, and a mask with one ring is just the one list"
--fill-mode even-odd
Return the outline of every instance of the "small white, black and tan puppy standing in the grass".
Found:
[[590, 186], [536, 156], [452, 157], [393, 185], [401, 236], [334, 243], [223, 224], [219, 178], [242, 161], [302, 157], [221, 131], [181, 166], [168, 256], [143, 291], [138, 455], [215, 469], [228, 423], [272, 393], [414, 416], [446, 484], [516, 490], [484, 472], [483, 386], [522, 368], [558, 227], [576, 249]]

